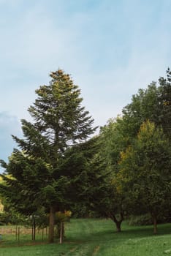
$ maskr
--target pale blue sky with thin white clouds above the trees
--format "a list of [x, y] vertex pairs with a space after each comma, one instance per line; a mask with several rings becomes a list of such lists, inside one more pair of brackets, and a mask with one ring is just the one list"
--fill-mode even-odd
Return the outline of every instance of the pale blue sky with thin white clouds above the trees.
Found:
[[0, 0], [0, 159], [60, 67], [102, 126], [171, 62], [170, 0]]

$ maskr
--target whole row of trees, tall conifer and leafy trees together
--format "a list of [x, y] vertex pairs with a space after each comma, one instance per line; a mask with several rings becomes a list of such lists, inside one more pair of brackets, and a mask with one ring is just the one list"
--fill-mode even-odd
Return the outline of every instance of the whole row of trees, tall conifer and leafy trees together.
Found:
[[50, 78], [28, 108], [33, 121], [21, 121], [23, 138], [13, 136], [18, 148], [1, 160], [1, 195], [23, 216], [49, 214], [50, 242], [56, 211], [83, 207], [113, 219], [118, 231], [125, 216], [149, 212], [156, 233], [160, 212], [171, 209], [170, 69], [94, 137], [78, 86], [61, 69]]

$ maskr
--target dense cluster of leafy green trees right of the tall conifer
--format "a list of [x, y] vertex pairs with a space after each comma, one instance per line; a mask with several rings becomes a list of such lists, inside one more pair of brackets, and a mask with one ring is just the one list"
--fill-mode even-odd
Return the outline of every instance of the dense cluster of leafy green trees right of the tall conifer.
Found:
[[170, 78], [167, 69], [166, 79], [140, 89], [123, 108], [123, 115], [110, 119], [99, 134], [115, 191], [107, 205], [109, 197], [105, 200], [104, 195], [104, 208], [117, 226], [126, 214], [150, 212], [156, 233], [159, 213], [168, 215], [170, 211]]

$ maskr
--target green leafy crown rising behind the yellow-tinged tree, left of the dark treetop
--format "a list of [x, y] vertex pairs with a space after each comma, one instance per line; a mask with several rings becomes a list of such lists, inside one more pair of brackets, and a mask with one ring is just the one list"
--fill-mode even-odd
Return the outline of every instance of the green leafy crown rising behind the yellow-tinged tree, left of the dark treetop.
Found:
[[160, 88], [156, 83], [151, 83], [148, 89], [139, 89], [132, 96], [132, 102], [123, 108], [123, 118], [120, 120], [121, 132], [127, 138], [127, 146], [137, 136], [141, 124], [150, 120], [159, 124], [158, 98]]

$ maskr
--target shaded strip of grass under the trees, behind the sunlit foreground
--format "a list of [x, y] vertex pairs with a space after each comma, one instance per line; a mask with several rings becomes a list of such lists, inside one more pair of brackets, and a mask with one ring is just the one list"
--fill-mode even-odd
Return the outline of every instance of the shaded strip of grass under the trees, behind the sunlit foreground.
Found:
[[[158, 225], [158, 234], [156, 236], [163, 236], [171, 234], [171, 224]], [[129, 226], [126, 222], [123, 222], [122, 231], [118, 233], [115, 231], [115, 225], [110, 220], [98, 220], [98, 219], [84, 219], [73, 222], [68, 225], [66, 229], [66, 238], [64, 244], [107, 244], [110, 242], [121, 244], [123, 241], [134, 238], [148, 238], [153, 235], [153, 226]], [[58, 241], [56, 241], [58, 244]], [[46, 244], [47, 241], [36, 242], [36, 244]], [[34, 244], [34, 245], [36, 245]], [[2, 241], [0, 247], [4, 246], [24, 246], [32, 245], [31, 241], [21, 241], [20, 244], [17, 241], [7, 240]]]

